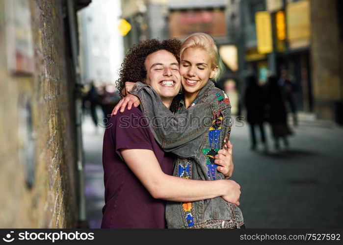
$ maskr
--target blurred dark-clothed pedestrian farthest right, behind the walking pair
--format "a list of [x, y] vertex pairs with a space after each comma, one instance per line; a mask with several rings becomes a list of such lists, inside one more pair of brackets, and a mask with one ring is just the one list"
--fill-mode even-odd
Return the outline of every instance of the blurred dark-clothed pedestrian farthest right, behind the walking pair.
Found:
[[290, 108], [293, 116], [294, 126], [298, 125], [298, 118], [296, 115], [296, 104], [294, 99], [294, 93], [296, 92], [296, 83], [290, 78], [287, 70], [282, 70], [278, 81], [279, 86], [282, 88], [283, 96], [286, 104]]

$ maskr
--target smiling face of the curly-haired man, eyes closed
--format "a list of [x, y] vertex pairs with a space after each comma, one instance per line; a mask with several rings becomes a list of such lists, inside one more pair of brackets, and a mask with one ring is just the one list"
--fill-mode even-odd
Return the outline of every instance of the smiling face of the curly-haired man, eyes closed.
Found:
[[145, 83], [150, 85], [163, 99], [172, 99], [180, 91], [181, 76], [175, 56], [164, 49], [147, 56], [144, 62], [147, 75]]

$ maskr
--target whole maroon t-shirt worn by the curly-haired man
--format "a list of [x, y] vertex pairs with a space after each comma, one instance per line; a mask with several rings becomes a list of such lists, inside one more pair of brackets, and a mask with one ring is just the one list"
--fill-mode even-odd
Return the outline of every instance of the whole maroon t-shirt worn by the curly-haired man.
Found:
[[133, 107], [111, 117], [104, 135], [105, 206], [102, 228], [165, 228], [165, 201], [153, 198], [124, 162], [120, 149], [149, 149], [166, 174], [172, 158], [155, 141], [142, 112]]

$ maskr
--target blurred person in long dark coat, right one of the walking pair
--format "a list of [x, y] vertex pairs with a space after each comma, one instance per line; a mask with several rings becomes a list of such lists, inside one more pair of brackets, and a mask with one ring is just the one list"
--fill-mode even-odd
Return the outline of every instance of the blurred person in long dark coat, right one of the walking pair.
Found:
[[267, 119], [271, 125], [275, 149], [280, 149], [280, 139], [283, 140], [285, 147], [288, 148], [287, 136], [292, 133], [287, 123], [287, 110], [281, 88], [274, 76], [268, 77], [266, 86]]

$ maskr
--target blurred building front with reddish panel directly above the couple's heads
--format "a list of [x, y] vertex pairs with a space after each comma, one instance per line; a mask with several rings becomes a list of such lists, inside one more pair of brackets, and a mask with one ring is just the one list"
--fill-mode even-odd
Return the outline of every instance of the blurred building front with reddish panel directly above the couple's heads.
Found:
[[227, 44], [226, 0], [122, 0], [122, 17], [132, 31], [125, 37], [126, 49], [145, 39], [185, 38], [206, 32]]

